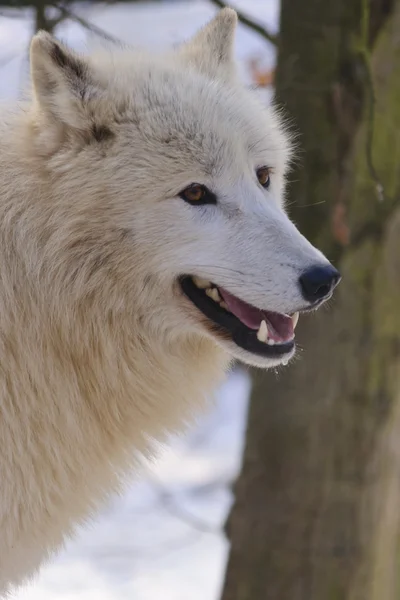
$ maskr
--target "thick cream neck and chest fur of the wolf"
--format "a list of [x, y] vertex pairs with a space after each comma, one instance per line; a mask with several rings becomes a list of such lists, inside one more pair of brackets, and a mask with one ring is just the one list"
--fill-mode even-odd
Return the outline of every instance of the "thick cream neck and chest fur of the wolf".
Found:
[[157, 281], [124, 279], [134, 240], [49, 171], [29, 111], [0, 133], [1, 596], [204, 407], [227, 358], [154, 318]]

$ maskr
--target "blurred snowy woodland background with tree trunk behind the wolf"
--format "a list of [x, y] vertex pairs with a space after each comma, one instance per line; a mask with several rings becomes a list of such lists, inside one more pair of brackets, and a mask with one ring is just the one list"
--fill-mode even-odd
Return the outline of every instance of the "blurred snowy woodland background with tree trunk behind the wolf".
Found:
[[[0, 99], [36, 29], [162, 50], [224, 5], [0, 0]], [[400, 600], [400, 0], [233, 7], [243, 81], [297, 135], [290, 215], [343, 282], [299, 360], [237, 367], [15, 600]]]

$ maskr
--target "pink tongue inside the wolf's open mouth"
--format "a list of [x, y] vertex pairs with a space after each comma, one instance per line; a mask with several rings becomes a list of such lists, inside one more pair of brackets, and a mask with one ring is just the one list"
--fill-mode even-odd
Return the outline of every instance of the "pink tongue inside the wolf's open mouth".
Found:
[[251, 304], [239, 300], [223, 288], [218, 288], [229, 310], [250, 329], [258, 330], [264, 319], [268, 325], [268, 337], [275, 342], [291, 340], [294, 335], [292, 319], [280, 313], [260, 310]]

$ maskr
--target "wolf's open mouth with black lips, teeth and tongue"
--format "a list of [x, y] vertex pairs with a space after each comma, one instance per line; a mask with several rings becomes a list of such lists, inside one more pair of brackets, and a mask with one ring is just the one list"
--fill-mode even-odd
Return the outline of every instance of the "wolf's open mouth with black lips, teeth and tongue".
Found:
[[229, 334], [235, 344], [247, 352], [278, 358], [293, 351], [299, 313], [286, 315], [261, 310], [196, 276], [182, 277], [180, 285], [189, 300], [219, 331]]

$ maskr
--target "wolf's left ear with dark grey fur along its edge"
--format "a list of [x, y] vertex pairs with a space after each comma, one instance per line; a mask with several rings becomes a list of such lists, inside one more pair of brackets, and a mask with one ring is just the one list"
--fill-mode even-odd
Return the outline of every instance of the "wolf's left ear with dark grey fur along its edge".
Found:
[[89, 64], [44, 31], [33, 37], [30, 59], [39, 109], [64, 125], [87, 126], [85, 104], [98, 87]]

